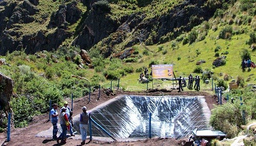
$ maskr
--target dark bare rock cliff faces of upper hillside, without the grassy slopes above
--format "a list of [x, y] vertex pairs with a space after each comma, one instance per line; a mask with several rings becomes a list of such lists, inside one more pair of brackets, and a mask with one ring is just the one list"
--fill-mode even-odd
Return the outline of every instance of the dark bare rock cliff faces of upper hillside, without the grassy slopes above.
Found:
[[[87, 7], [86, 13], [82, 14], [77, 7], [78, 3]], [[101, 41], [101, 53], [109, 57], [115, 52], [115, 46], [120, 43], [123, 47], [121, 49], [141, 42], [156, 44], [169, 41], [184, 31], [190, 31], [202, 21], [208, 20], [215, 10], [221, 7], [216, 5], [212, 8], [205, 3], [202, 0], [187, 0], [167, 14], [151, 19], [147, 19], [145, 13], [136, 12], [114, 20], [111, 17], [110, 5], [102, 5], [102, 1], [72, 1], [62, 3], [56, 12], [53, 12], [49, 18], [45, 18], [45, 20], [50, 19], [47, 28], [54, 31], [39, 30], [33, 34], [23, 34], [15, 31], [18, 29], [15, 24], [35, 21], [33, 15], [40, 11], [37, 8], [40, 1], [25, 0], [20, 3], [1, 1], [0, 55], [22, 48], [26, 48], [26, 53], [31, 54], [42, 50], [56, 50], [67, 38], [74, 38], [72, 45], [87, 51]], [[81, 29], [70, 32], [69, 26], [76, 23], [81, 16], [83, 21], [78, 26]], [[170, 33], [172, 35], [169, 35]]]

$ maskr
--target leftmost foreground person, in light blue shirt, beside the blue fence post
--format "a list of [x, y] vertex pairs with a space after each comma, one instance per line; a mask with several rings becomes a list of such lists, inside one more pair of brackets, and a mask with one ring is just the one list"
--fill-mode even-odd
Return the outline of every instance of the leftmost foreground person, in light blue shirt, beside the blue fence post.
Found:
[[58, 127], [57, 127], [57, 123], [58, 123], [58, 112], [57, 112], [57, 108], [58, 105], [57, 104], [53, 104], [52, 105], [52, 110], [51, 110], [51, 121], [52, 121], [52, 126], [53, 126], [53, 130], [52, 130], [52, 139], [53, 140], [57, 140], [57, 133], [58, 133]]

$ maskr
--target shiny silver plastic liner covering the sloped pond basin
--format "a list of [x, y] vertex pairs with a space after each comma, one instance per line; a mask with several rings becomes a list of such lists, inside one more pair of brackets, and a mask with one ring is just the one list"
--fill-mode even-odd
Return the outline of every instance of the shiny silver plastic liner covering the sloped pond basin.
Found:
[[[91, 117], [116, 138], [187, 136], [192, 130], [206, 129], [210, 111], [203, 96], [120, 95], [90, 110]], [[79, 116], [74, 117], [79, 132]], [[89, 135], [89, 131], [88, 131]], [[109, 137], [92, 123], [92, 135]]]

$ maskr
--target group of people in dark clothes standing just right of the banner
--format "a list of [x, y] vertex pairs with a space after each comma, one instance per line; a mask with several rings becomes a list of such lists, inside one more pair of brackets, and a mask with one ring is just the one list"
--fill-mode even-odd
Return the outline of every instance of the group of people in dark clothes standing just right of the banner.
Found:
[[[182, 84], [186, 85], [186, 80], [183, 78], [181, 79], [181, 76], [180, 78], [178, 79], [179, 81], [179, 91], [182, 90], [183, 91], [183, 88], [182, 88]], [[196, 76], [195, 78], [193, 78], [193, 75], [189, 75], [188, 76], [188, 84], [187, 84], [187, 88], [188, 89], [193, 89], [193, 82], [196, 82], [195, 85], [194, 85], [194, 89], [196, 89], [197, 91], [200, 90], [200, 77], [199, 76]]]

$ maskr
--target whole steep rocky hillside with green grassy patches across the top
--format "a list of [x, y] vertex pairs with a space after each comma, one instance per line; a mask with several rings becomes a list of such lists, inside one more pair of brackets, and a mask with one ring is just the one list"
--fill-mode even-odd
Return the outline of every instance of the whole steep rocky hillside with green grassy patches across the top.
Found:
[[97, 46], [109, 57], [141, 42], [172, 40], [207, 21], [226, 2], [2, 0], [0, 55], [73, 45], [87, 51]]

